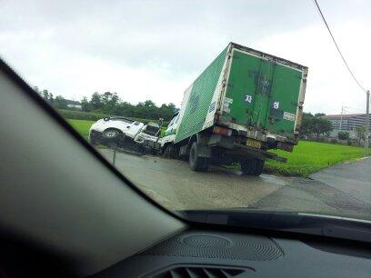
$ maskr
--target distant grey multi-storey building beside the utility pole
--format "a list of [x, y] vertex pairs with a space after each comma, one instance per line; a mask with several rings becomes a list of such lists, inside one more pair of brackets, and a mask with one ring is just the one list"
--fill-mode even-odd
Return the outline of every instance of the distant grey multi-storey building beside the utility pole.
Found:
[[[366, 124], [366, 114], [328, 114], [323, 117], [331, 122], [333, 128], [331, 137], [337, 137], [339, 132], [346, 132], [350, 138], [356, 138], [356, 127]], [[371, 114], [368, 114], [368, 118], [371, 130]]]

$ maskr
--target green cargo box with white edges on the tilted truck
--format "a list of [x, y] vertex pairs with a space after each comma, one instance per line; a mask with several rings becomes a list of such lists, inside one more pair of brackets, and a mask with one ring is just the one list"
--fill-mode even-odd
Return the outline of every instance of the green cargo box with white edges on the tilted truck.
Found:
[[218, 124], [296, 144], [306, 74], [306, 66], [230, 43], [186, 90], [175, 143]]

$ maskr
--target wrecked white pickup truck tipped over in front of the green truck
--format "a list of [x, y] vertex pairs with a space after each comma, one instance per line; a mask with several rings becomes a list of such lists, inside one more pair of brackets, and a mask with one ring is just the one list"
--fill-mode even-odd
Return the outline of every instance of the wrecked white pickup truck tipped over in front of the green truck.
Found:
[[91, 144], [115, 144], [117, 147], [135, 148], [153, 153], [160, 148], [159, 124], [143, 124], [125, 117], [107, 117], [92, 124], [89, 130]]

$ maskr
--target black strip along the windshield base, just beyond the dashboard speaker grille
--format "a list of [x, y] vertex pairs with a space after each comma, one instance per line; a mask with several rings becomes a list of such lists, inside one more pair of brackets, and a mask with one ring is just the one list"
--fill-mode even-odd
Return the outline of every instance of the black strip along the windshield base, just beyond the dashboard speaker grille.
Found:
[[185, 210], [180, 216], [197, 223], [306, 233], [371, 243], [371, 221], [315, 213], [256, 210]]

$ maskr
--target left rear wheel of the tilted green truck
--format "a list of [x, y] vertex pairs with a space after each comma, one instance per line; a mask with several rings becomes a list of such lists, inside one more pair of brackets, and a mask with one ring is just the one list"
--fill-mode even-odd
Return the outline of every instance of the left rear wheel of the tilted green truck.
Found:
[[207, 171], [211, 161], [211, 148], [207, 146], [208, 137], [204, 134], [193, 135], [187, 144], [189, 165], [193, 171]]

